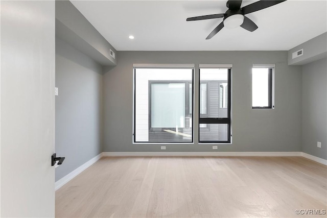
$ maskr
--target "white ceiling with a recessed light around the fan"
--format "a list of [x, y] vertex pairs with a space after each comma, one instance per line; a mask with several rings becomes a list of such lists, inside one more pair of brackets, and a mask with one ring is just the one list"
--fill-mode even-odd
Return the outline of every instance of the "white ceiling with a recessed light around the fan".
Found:
[[118, 51], [286, 51], [327, 31], [326, 0], [289, 0], [247, 14], [257, 30], [224, 28], [209, 40], [222, 18], [186, 18], [225, 13], [226, 1], [71, 2]]

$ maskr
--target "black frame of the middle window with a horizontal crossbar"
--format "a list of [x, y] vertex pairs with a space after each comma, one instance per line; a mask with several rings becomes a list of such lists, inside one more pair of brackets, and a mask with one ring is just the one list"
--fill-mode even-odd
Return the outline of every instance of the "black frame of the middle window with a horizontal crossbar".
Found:
[[[227, 92], [228, 92], [228, 103], [227, 103], [227, 117], [200, 117], [200, 89], [199, 89], [199, 96], [198, 96], [198, 102], [199, 102], [199, 128], [198, 128], [198, 136], [199, 136], [199, 143], [231, 143], [231, 67], [201, 67], [199, 66], [199, 87], [201, 84], [201, 68], [227, 68]], [[219, 87], [218, 87], [219, 89]], [[208, 86], [207, 86], [207, 96], [208, 96]], [[208, 103], [207, 103], [208, 104]], [[200, 124], [227, 124], [227, 141], [201, 141], [200, 140]], [[206, 129], [209, 129], [209, 126], [207, 125]]]

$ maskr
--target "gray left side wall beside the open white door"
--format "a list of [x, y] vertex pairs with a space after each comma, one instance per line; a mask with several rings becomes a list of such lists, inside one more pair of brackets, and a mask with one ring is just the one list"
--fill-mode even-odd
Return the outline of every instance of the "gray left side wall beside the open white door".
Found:
[[56, 181], [102, 152], [102, 67], [56, 38]]

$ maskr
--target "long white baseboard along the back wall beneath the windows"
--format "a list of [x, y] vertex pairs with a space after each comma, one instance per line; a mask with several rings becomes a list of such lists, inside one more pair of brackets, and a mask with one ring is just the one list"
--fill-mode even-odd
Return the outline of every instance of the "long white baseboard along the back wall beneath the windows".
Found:
[[103, 152], [104, 157], [128, 156], [267, 156], [267, 157], [301, 157], [301, 152]]

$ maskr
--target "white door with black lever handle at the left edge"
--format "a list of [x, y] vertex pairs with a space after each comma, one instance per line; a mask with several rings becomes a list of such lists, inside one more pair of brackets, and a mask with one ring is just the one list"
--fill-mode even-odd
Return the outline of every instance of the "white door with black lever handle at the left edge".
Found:
[[1, 217], [52, 217], [55, 2], [0, 4]]

